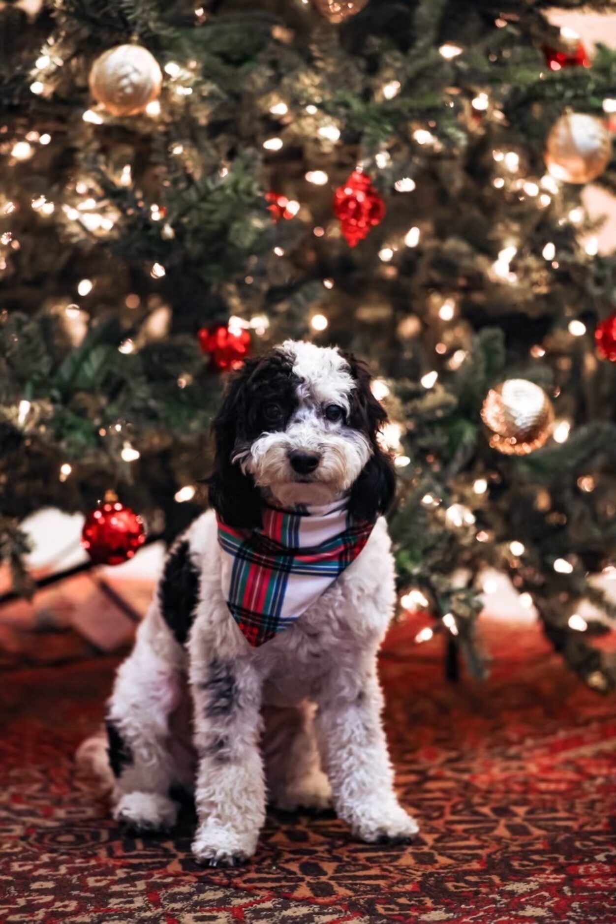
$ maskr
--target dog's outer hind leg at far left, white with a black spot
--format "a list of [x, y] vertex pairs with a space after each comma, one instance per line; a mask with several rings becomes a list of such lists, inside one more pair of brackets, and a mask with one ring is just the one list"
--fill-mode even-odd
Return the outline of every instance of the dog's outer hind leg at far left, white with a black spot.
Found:
[[132, 654], [117, 673], [109, 702], [114, 817], [141, 833], [168, 830], [177, 817], [177, 804], [169, 795], [178, 782], [169, 717], [181, 698], [180, 655], [153, 603]]

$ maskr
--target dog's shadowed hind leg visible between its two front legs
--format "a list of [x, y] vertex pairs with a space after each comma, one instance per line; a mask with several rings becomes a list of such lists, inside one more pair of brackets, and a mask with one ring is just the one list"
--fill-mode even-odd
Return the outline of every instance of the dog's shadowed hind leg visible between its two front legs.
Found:
[[262, 748], [268, 799], [274, 808], [323, 811], [332, 806], [332, 789], [320, 769], [314, 712], [308, 700], [298, 706], [266, 706], [263, 710]]

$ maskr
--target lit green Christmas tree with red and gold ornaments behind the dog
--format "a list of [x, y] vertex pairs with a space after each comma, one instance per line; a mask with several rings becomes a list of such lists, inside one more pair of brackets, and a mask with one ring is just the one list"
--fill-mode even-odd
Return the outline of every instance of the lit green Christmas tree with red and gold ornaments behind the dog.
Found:
[[597, 582], [616, 553], [616, 261], [580, 205], [616, 184], [616, 52], [589, 55], [547, 6], [0, 6], [0, 550], [18, 590], [20, 524], [43, 506], [91, 515], [95, 560], [113, 557], [105, 496], [129, 519], [119, 558], [143, 541], [131, 511], [171, 539], [207, 503], [226, 371], [311, 338], [378, 372], [419, 640], [443, 633], [481, 675], [495, 567], [591, 687], [616, 686], [595, 638], [616, 617]]

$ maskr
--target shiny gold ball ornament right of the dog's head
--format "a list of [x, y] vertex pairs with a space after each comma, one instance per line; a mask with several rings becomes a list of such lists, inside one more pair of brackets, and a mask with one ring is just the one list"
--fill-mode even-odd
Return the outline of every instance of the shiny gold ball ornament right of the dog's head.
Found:
[[489, 444], [505, 456], [526, 456], [549, 438], [554, 408], [542, 388], [525, 379], [507, 379], [490, 388], [481, 419], [491, 435]]

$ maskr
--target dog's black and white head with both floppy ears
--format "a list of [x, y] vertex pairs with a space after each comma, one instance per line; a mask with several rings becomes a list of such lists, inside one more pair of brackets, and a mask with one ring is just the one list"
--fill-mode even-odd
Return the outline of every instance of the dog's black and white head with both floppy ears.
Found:
[[230, 526], [260, 525], [261, 497], [329, 504], [348, 493], [351, 516], [391, 504], [392, 460], [377, 433], [387, 415], [367, 367], [335, 347], [287, 340], [249, 359], [213, 422], [210, 503]]

